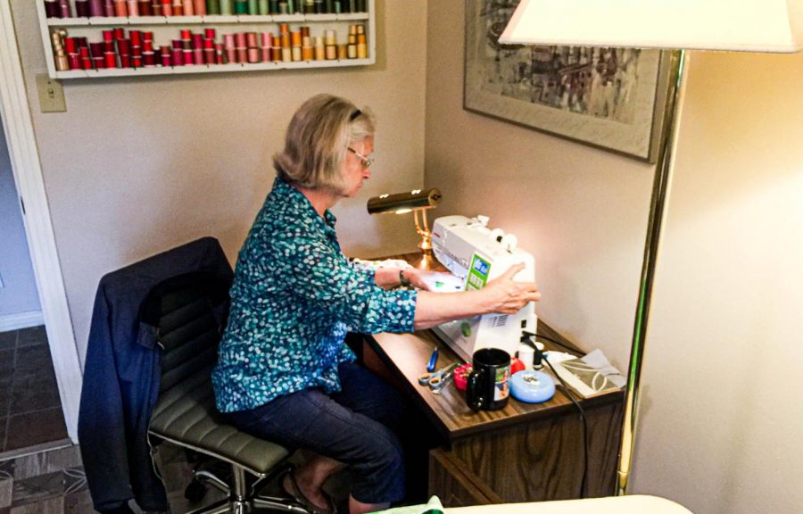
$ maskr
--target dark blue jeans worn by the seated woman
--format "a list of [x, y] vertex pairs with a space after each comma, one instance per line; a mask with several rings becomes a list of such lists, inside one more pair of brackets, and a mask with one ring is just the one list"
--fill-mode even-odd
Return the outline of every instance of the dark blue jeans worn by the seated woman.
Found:
[[402, 444], [394, 433], [402, 420], [402, 398], [356, 363], [338, 368], [342, 390], [319, 388], [281, 396], [228, 419], [256, 437], [304, 448], [346, 464], [358, 502], [397, 502], [404, 497]]

